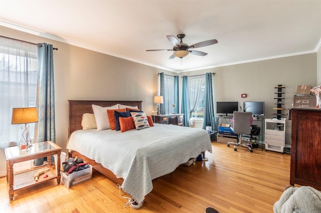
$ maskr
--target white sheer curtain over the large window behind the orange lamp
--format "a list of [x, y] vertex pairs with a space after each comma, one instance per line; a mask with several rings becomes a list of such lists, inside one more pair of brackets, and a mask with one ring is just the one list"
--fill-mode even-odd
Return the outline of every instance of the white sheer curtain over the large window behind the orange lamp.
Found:
[[[37, 45], [0, 37], [0, 176], [6, 175], [4, 148], [22, 138], [20, 124], [11, 124], [12, 108], [35, 107]], [[35, 123], [29, 123], [34, 135]]]

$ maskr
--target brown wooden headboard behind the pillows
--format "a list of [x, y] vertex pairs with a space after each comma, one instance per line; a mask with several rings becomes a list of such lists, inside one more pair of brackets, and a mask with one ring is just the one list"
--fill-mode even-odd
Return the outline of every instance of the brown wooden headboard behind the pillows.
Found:
[[[102, 107], [112, 106], [117, 103], [137, 106], [141, 109], [141, 100], [68, 100], [69, 101], [69, 128], [68, 137], [76, 130], [82, 129], [81, 120], [84, 113], [94, 113], [92, 104]], [[107, 112], [106, 112], [107, 113]]]

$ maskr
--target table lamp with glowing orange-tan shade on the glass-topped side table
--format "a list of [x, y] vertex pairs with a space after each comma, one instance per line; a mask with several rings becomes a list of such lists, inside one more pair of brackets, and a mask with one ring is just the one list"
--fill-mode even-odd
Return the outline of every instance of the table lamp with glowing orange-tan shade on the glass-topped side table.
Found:
[[29, 126], [27, 123], [38, 122], [38, 114], [36, 107], [25, 107], [25, 108], [13, 108], [12, 109], [12, 119], [11, 124], [22, 124], [25, 123], [25, 126], [21, 126], [23, 129], [22, 139], [20, 143], [26, 143], [27, 147], [32, 146], [31, 138], [29, 137]]

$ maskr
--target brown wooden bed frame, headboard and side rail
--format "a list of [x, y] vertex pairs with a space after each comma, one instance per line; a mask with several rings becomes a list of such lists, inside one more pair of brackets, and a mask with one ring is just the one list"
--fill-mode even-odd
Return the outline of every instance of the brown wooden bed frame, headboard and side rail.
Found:
[[[70, 134], [76, 130], [82, 129], [81, 120], [84, 113], [94, 113], [92, 110], [92, 104], [100, 105], [102, 107], [112, 106], [117, 103], [129, 106], [137, 106], [141, 109], [141, 100], [68, 100], [69, 101], [69, 127], [68, 127], [68, 137]], [[113, 180], [118, 184], [122, 184], [123, 178], [117, 178], [116, 175], [109, 169], [103, 167], [100, 163], [95, 160], [90, 159], [81, 153], [69, 150], [69, 157], [80, 157], [84, 161], [88, 162], [93, 168], [100, 173], [104, 174], [109, 179]]]

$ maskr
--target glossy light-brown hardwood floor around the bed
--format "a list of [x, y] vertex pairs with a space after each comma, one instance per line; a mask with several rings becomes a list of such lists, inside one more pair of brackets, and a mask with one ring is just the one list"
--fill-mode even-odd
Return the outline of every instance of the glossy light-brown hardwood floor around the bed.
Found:
[[[9, 200], [6, 177], [0, 178], [0, 209], [5, 212], [273, 212], [289, 184], [290, 155], [244, 147], [237, 151], [212, 142], [209, 161], [180, 166], [153, 182], [139, 209], [123, 207], [116, 184], [93, 170], [90, 180], [67, 189], [47, 181], [15, 192]], [[125, 195], [121, 191], [122, 195]], [[3, 212], [3, 211], [2, 211]]]

